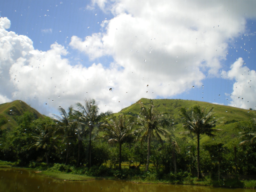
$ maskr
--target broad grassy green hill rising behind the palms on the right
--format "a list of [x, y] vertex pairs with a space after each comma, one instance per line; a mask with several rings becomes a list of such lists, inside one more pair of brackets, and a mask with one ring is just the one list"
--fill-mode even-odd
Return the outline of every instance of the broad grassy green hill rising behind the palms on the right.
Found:
[[[179, 135], [178, 132], [183, 131], [182, 128], [182, 119], [178, 116], [180, 108], [191, 109], [195, 105], [200, 105], [204, 108], [214, 106], [214, 112], [216, 118], [221, 118], [222, 123], [217, 126], [217, 129], [222, 129], [217, 133], [218, 137], [209, 139], [207, 136], [202, 136], [201, 143], [204, 142], [222, 142], [222, 143], [232, 143], [237, 141], [238, 131], [235, 130], [236, 125], [242, 125], [250, 120], [250, 118], [255, 117], [255, 111], [235, 108], [231, 106], [212, 104], [202, 101], [192, 101], [192, 100], [181, 100], [181, 99], [152, 99], [155, 110], [158, 113], [167, 112], [170, 114], [173, 119], [173, 125], [175, 126], [175, 136], [182, 138], [183, 136]], [[122, 109], [120, 113], [127, 115], [138, 116], [140, 115], [141, 103], [144, 106], [147, 106], [151, 103], [150, 99], [142, 98], [136, 103], [132, 104], [129, 107]], [[193, 140], [193, 139], [191, 139]]]

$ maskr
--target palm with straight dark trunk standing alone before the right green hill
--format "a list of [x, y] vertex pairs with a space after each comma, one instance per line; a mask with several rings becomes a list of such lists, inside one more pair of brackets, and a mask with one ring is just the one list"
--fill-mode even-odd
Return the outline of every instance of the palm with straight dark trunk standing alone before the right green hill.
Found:
[[215, 136], [213, 133], [220, 131], [215, 129], [220, 119], [215, 119], [213, 107], [209, 110], [204, 110], [200, 106], [192, 107], [191, 112], [187, 112], [185, 108], [180, 109], [180, 116], [184, 120], [183, 128], [187, 131], [179, 132], [182, 135], [196, 135], [197, 136], [197, 173], [198, 179], [202, 178], [200, 171], [200, 135], [207, 135], [209, 137]]

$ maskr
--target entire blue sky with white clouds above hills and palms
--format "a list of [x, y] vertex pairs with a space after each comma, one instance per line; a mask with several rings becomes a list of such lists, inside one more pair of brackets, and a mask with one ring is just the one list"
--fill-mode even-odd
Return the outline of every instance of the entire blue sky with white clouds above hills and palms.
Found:
[[58, 114], [84, 99], [256, 109], [254, 0], [2, 0], [0, 103]]

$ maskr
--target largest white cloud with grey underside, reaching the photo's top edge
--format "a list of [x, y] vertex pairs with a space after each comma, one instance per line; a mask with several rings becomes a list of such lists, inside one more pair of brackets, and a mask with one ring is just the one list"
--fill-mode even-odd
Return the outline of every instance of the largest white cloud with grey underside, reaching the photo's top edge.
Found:
[[95, 0], [92, 4], [115, 17], [105, 21], [101, 33], [84, 40], [73, 36], [70, 46], [92, 60], [105, 55], [114, 58], [122, 67], [116, 73], [122, 77], [122, 85], [115, 82], [116, 97], [124, 97], [126, 91], [136, 98], [172, 97], [201, 86], [206, 77], [220, 77], [228, 44], [244, 32], [245, 15], [255, 16], [253, 1], [121, 0], [109, 4]]

